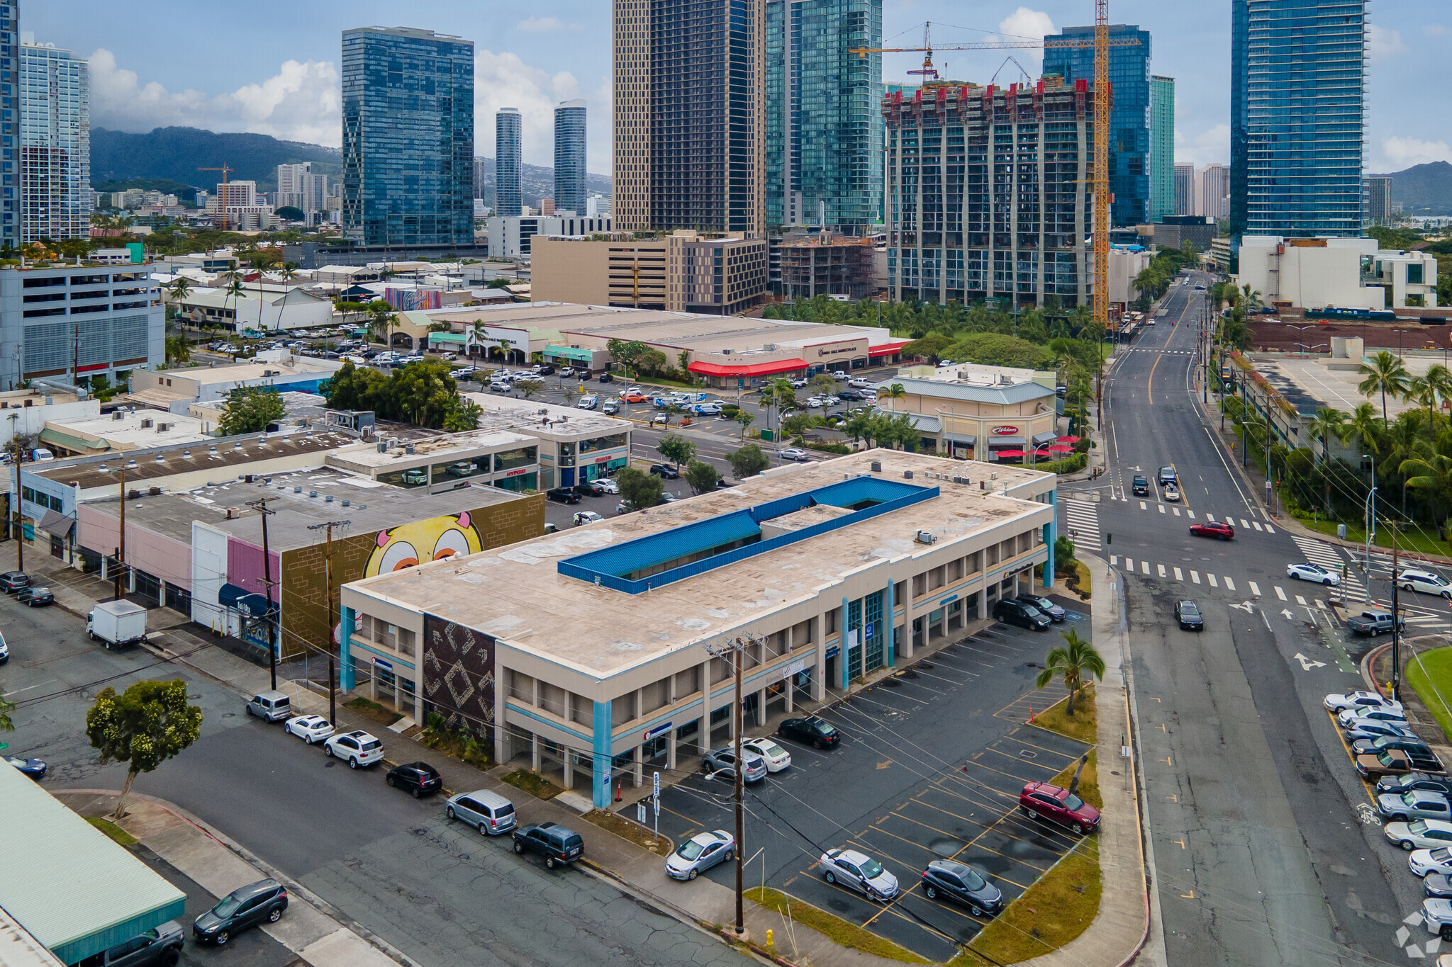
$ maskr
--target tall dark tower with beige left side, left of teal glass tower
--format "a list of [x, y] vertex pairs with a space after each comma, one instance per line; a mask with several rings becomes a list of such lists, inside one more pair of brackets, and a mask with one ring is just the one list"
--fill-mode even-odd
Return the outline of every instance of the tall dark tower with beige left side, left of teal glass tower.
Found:
[[621, 231], [765, 233], [765, 0], [614, 0]]

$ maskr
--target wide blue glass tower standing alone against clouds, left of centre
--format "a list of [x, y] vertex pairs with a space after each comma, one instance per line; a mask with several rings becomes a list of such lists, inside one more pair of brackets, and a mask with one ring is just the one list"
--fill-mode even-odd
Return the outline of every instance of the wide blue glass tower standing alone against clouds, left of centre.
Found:
[[343, 226], [359, 245], [473, 245], [473, 42], [343, 32]]

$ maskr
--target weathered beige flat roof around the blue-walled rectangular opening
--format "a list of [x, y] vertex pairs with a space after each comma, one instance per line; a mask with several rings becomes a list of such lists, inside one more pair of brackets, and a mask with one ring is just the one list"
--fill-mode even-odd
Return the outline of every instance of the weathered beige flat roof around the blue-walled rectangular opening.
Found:
[[[881, 461], [880, 474], [870, 474], [873, 461]], [[905, 471], [913, 471], [913, 478], [905, 478]], [[926, 471], [967, 471], [974, 478], [964, 486], [928, 478]], [[767, 615], [786, 602], [815, 596], [877, 561], [921, 551], [923, 547], [913, 539], [919, 529], [932, 531], [939, 539], [958, 539], [1044, 510], [1041, 503], [980, 490], [980, 474], [986, 473], [989, 468], [984, 464], [874, 449], [799, 464], [727, 490], [608, 518], [507, 548], [364, 578], [348, 587], [427, 610], [585, 674], [604, 677], [691, 647], [723, 629]], [[893, 484], [894, 491], [938, 487], [939, 493], [909, 507], [751, 554], [645, 593], [597, 586], [559, 570], [565, 558], [587, 554], [590, 558], [585, 560], [610, 557], [608, 551], [637, 538], [666, 538], [666, 532], [693, 523], [716, 526], [723, 518], [732, 519], [742, 510], [777, 500], [790, 503], [803, 491], [849, 483], [861, 474], [870, 474], [871, 483]], [[1045, 478], [1051, 480], [1053, 474], [1005, 467], [998, 470], [993, 487], [1000, 490]], [[778, 519], [777, 529], [831, 523], [835, 516], [833, 512], [786, 516]], [[677, 531], [666, 541], [678, 535]], [[762, 536], [767, 536], [765, 528]], [[688, 552], [685, 544], [682, 539], [680, 549]], [[630, 548], [623, 557], [633, 554], [635, 548]], [[620, 560], [601, 564], [601, 570], [614, 565], [620, 573]]]

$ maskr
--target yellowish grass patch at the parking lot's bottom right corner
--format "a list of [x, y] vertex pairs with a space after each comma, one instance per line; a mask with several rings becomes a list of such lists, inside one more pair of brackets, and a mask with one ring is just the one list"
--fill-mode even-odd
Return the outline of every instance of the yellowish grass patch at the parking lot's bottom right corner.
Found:
[[1099, 912], [1099, 895], [1104, 890], [1098, 847], [1096, 837], [1080, 841], [1021, 897], [1009, 903], [998, 919], [984, 926], [968, 950], [948, 964], [966, 967], [990, 963], [976, 957], [973, 951], [992, 957], [992, 963], [1016, 964], [1059, 950], [1089, 929]]

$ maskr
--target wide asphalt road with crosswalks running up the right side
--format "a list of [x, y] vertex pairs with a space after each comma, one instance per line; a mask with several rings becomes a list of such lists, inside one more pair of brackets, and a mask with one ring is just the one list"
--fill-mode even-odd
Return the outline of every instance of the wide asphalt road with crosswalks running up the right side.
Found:
[[[1063, 526], [1125, 574], [1169, 960], [1403, 960], [1397, 928], [1420, 906], [1420, 884], [1379, 828], [1359, 825], [1365, 792], [1321, 706], [1361, 687], [1365, 642], [1324, 607], [1329, 589], [1286, 578], [1288, 563], [1336, 552], [1276, 526], [1199, 419], [1202, 300], [1172, 289], [1159, 323], [1121, 351], [1106, 384], [1109, 473], [1060, 502]], [[1162, 465], [1178, 471], [1178, 503], [1153, 483]], [[1138, 473], [1147, 497], [1130, 493]], [[1211, 518], [1233, 520], [1236, 539], [1188, 534]], [[1201, 605], [1204, 632], [1175, 626], [1182, 597]], [[1426, 939], [1417, 928], [1408, 942]]]

